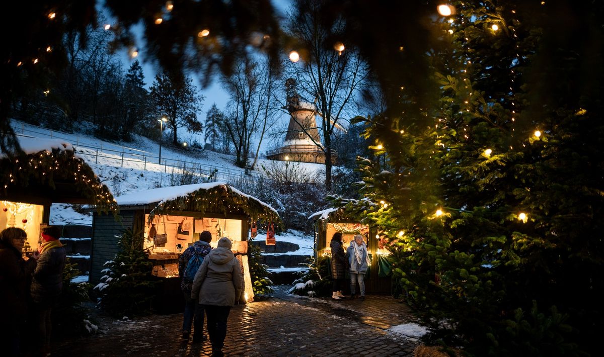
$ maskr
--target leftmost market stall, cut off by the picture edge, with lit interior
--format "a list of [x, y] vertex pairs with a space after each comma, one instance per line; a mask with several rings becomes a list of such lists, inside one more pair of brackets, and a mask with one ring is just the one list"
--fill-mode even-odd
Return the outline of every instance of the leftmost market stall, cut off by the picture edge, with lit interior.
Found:
[[107, 186], [71, 144], [22, 136], [18, 140], [22, 153], [0, 154], [0, 230], [24, 229], [24, 253], [39, 246], [52, 203], [93, 204], [104, 212], [117, 211]]

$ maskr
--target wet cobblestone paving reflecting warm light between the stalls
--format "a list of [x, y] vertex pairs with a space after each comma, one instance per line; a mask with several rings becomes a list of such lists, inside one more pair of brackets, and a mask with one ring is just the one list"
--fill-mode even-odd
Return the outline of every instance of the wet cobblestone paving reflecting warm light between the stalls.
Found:
[[[300, 299], [277, 292], [231, 310], [226, 356], [412, 356], [417, 340], [388, 331], [413, 321], [390, 297]], [[209, 341], [181, 339], [182, 314], [104, 319], [88, 338], [65, 341], [53, 356], [210, 356]]]

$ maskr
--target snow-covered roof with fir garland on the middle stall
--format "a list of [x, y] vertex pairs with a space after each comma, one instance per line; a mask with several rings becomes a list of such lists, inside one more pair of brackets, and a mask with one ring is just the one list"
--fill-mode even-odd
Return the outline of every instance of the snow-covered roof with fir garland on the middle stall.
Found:
[[280, 224], [279, 213], [269, 204], [245, 194], [226, 182], [148, 189], [116, 198], [122, 207], [145, 206], [153, 215], [165, 211], [244, 213], [252, 220]]

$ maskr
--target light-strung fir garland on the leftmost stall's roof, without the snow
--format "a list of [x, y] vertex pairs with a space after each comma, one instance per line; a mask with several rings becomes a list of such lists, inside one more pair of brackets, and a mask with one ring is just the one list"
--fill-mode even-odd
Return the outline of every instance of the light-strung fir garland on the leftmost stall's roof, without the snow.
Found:
[[65, 149], [65, 144], [63, 148], [53, 148], [52, 151], [0, 157], [0, 166], [2, 195], [15, 190], [27, 192], [29, 187], [42, 186], [54, 190], [58, 182], [69, 183], [100, 212], [117, 214], [118, 206], [107, 186], [81, 157], [76, 156], [75, 150]]

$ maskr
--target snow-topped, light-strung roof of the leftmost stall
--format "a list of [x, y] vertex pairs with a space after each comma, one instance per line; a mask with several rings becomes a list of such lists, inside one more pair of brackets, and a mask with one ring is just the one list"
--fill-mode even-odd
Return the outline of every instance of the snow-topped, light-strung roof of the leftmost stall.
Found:
[[18, 141], [22, 153], [0, 154], [0, 200], [87, 203], [104, 211], [117, 210], [107, 186], [71, 144], [25, 136], [18, 136]]

